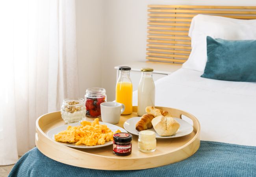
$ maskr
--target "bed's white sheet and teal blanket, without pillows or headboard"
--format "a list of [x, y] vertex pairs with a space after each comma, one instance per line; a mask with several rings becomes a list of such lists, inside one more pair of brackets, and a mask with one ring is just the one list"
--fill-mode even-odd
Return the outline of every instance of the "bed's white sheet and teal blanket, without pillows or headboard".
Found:
[[[201, 74], [181, 68], [155, 83], [156, 105], [184, 109], [201, 124], [200, 148], [188, 159], [147, 170], [104, 171], [62, 164], [35, 147], [9, 176], [256, 176], [256, 83], [205, 79]], [[136, 91], [133, 98], [135, 105]]]

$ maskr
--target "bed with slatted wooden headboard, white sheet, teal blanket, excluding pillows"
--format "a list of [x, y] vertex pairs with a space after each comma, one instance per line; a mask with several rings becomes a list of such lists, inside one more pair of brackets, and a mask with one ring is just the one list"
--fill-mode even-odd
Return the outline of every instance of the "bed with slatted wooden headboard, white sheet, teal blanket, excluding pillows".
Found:
[[[191, 41], [187, 31], [191, 18], [198, 13], [256, 19], [256, 7], [149, 7], [152, 15], [149, 14], [147, 59], [166, 65], [180, 65], [189, 58]], [[169, 21], [174, 21], [169, 25], [178, 28], [161, 27]], [[185, 65], [155, 82], [157, 106], [185, 110], [200, 122], [200, 148], [188, 159], [147, 170], [91, 170], [61, 164], [35, 147], [20, 158], [9, 176], [256, 176], [256, 83], [206, 79], [200, 77], [202, 74]], [[137, 105], [136, 91], [133, 104]]]

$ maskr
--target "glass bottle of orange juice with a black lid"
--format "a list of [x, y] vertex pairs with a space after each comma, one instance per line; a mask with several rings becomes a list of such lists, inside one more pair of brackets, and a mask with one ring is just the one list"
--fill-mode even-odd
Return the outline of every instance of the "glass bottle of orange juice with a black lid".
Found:
[[123, 115], [132, 114], [132, 81], [130, 78], [131, 68], [119, 67], [119, 78], [115, 89], [115, 100], [125, 105]]

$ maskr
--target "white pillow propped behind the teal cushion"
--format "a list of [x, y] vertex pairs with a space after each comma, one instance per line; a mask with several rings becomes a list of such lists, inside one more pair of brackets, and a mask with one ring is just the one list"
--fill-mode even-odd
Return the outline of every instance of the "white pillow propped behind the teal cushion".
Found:
[[183, 68], [204, 72], [207, 61], [207, 36], [226, 40], [256, 39], [256, 20], [196, 15], [189, 28], [192, 50]]

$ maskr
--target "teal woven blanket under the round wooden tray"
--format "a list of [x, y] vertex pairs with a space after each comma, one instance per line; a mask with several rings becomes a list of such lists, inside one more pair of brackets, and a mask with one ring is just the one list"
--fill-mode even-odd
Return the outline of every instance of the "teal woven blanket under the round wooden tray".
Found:
[[49, 159], [36, 147], [23, 155], [9, 177], [256, 177], [256, 147], [201, 141], [198, 151], [175, 164], [147, 170], [105, 171]]

